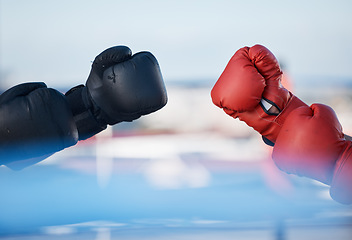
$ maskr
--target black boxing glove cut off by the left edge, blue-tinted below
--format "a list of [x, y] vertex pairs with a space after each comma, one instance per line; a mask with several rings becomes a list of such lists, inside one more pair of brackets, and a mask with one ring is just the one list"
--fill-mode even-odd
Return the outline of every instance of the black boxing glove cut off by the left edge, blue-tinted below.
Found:
[[25, 83], [0, 95], [0, 165], [22, 169], [77, 141], [71, 109], [58, 91]]

